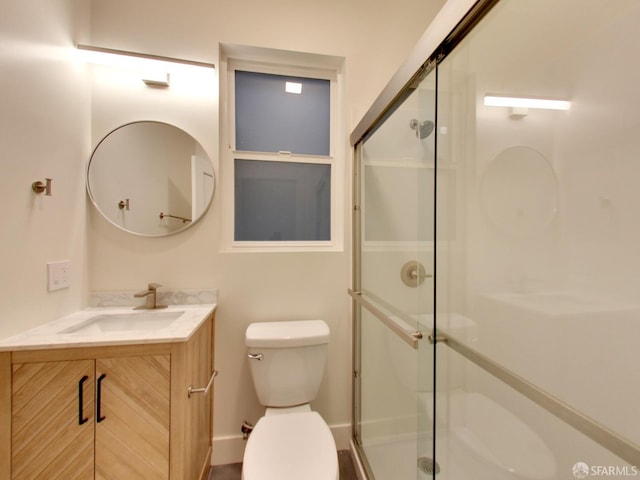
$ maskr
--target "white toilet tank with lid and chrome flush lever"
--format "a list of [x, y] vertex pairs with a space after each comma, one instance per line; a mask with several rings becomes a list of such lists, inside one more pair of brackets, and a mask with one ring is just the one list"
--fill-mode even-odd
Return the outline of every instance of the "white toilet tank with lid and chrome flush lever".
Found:
[[313, 400], [327, 360], [329, 326], [322, 320], [252, 323], [245, 333], [260, 403], [291, 407]]

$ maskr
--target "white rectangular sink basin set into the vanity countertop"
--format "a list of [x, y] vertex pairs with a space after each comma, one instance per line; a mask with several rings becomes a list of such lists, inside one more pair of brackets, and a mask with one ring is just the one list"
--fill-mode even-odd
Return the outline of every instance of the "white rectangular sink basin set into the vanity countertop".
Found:
[[100, 334], [159, 330], [171, 325], [184, 312], [131, 312], [95, 315], [59, 333]]

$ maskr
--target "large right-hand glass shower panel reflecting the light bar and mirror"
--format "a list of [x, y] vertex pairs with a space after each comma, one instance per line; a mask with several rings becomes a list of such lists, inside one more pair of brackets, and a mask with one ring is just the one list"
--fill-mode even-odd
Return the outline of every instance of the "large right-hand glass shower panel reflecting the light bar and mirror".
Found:
[[439, 61], [439, 480], [639, 475], [639, 23], [501, 0]]

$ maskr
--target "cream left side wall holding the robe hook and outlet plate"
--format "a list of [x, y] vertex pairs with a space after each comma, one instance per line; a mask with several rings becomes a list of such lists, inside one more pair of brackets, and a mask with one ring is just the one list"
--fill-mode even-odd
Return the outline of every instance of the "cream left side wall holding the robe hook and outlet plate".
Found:
[[[84, 164], [89, 83], [71, 59], [84, 1], [3, 0], [0, 15], [0, 337], [81, 308], [86, 298]], [[53, 195], [31, 183], [53, 179]], [[46, 263], [71, 261], [71, 286], [47, 291]]]

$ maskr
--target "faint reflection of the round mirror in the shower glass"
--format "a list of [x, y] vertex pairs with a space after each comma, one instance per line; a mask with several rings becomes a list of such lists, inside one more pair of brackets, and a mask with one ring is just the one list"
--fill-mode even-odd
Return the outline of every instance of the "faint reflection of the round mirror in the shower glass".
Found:
[[553, 167], [533, 148], [507, 148], [482, 175], [480, 203], [489, 223], [503, 233], [524, 236], [540, 231], [558, 211]]

